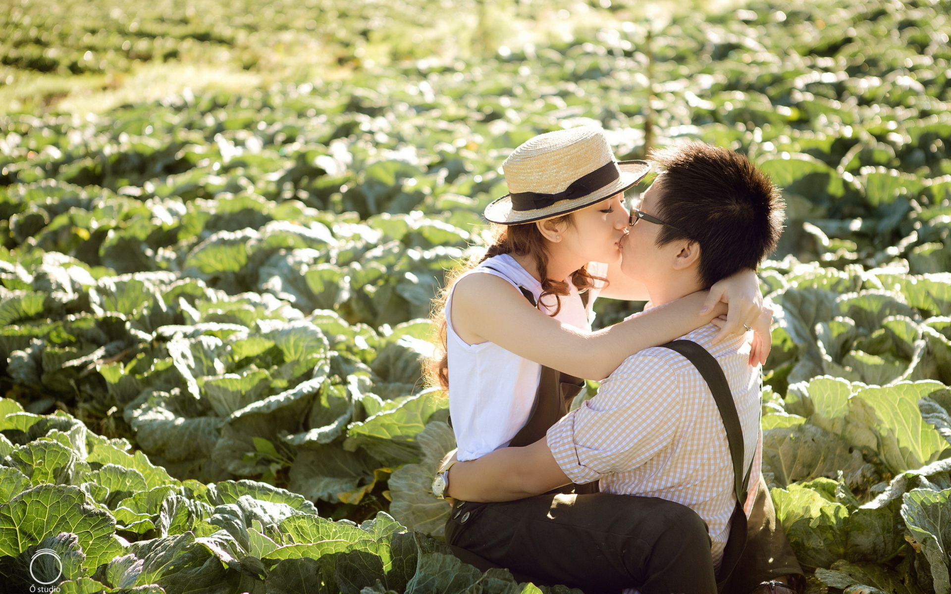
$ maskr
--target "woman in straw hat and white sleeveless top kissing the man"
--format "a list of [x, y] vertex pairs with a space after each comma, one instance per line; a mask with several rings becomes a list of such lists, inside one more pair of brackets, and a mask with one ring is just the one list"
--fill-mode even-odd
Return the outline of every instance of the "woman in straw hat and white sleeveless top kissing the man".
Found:
[[[768, 323], [761, 319], [758, 281], [751, 271], [717, 283], [706, 295], [692, 294], [591, 331], [592, 304], [599, 295], [646, 297], [643, 287], [620, 274], [619, 241], [629, 221], [624, 192], [644, 178], [648, 163], [617, 163], [604, 134], [582, 127], [537, 136], [516, 148], [502, 167], [510, 194], [485, 210], [486, 219], [500, 225], [497, 239], [480, 261], [450, 279], [434, 315], [441, 352], [429, 374], [449, 392], [456, 460], [534, 443], [568, 412], [583, 386], [580, 378], [603, 379], [630, 354], [708, 324], [727, 311], [721, 297], [733, 318], [721, 335], [730, 325], [757, 326], [754, 340], [760, 344], [754, 345], [750, 362], [765, 360]], [[453, 464], [434, 480], [437, 497], [447, 488]], [[597, 487], [566, 489], [580, 494]], [[611, 508], [604, 508], [606, 515], [624, 516], [634, 504], [625, 495], [602, 494], [602, 501]], [[660, 525], [678, 526], [676, 542], [652, 541], [658, 555], [689, 559], [690, 571], [712, 575], [707, 528], [699, 516], [673, 502], [656, 505], [655, 517], [665, 518]], [[452, 533], [447, 536], [452, 545]], [[453, 548], [472, 565], [497, 566]], [[708, 567], [699, 566], [704, 560]], [[670, 565], [667, 570], [679, 569]]]

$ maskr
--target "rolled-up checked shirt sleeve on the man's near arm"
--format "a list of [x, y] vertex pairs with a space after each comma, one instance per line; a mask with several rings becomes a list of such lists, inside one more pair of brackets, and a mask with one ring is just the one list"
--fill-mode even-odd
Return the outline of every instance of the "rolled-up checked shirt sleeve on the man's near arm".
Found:
[[631, 355], [596, 396], [548, 431], [558, 466], [574, 483], [637, 468], [670, 447], [682, 390], [663, 355]]

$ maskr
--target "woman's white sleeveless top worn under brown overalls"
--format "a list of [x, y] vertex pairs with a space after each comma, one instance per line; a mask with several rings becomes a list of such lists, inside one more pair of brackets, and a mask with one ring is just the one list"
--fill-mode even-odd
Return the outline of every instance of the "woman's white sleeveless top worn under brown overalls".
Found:
[[[490, 269], [489, 267], [495, 270]], [[607, 276], [605, 264], [592, 262], [588, 271]], [[490, 274], [504, 278], [516, 288], [525, 287], [535, 300], [541, 295], [541, 283], [508, 254], [481, 262], [463, 277]], [[461, 278], [460, 278], [461, 279]], [[600, 289], [592, 289], [586, 309], [578, 290], [569, 282], [571, 295], [560, 297], [561, 311], [555, 319], [581, 330], [591, 330], [591, 309]], [[454, 289], [455, 290], [455, 289]], [[549, 306], [551, 309], [549, 309]], [[541, 375], [541, 365], [506, 351], [493, 342], [467, 344], [453, 329], [453, 292], [446, 299], [446, 347], [449, 357], [449, 411], [456, 431], [459, 460], [475, 460], [490, 451], [509, 445], [528, 421]], [[547, 296], [539, 308], [545, 315], [555, 307], [554, 296]], [[517, 324], [518, 320], [512, 320]]]

